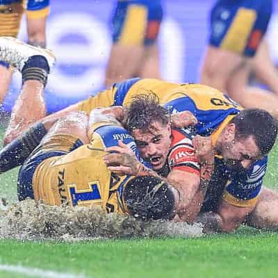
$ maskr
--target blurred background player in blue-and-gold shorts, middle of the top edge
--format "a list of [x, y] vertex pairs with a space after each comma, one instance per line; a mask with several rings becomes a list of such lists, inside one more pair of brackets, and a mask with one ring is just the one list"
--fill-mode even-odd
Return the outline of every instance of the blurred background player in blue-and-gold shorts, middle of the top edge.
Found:
[[106, 67], [106, 88], [135, 76], [159, 78], [157, 38], [162, 0], [119, 0], [113, 12], [113, 45]]

